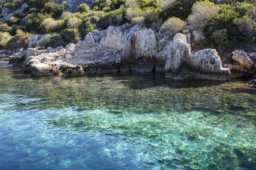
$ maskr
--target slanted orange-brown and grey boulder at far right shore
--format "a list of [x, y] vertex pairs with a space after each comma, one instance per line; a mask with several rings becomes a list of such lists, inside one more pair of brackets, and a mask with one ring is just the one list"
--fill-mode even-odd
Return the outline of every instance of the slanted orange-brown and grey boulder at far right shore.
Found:
[[244, 65], [244, 67], [252, 69], [254, 68], [254, 63], [250, 59], [250, 57], [247, 56], [247, 53], [243, 50], [235, 50], [232, 52], [233, 56], [232, 58], [239, 62], [241, 65]]

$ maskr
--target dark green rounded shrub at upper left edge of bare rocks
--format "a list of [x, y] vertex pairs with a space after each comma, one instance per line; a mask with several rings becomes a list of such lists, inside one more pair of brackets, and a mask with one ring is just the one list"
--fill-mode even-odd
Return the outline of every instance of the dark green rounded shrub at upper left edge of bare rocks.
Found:
[[77, 28], [65, 29], [61, 32], [61, 37], [65, 44], [74, 43], [76, 44], [80, 40], [79, 30]]

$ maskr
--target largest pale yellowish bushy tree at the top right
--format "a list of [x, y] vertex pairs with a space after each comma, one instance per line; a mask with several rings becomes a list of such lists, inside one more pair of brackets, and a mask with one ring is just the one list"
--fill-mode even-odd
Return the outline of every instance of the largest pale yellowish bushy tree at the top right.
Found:
[[189, 23], [194, 29], [204, 29], [209, 21], [218, 14], [218, 9], [209, 0], [196, 2], [192, 6], [192, 14], [189, 15]]

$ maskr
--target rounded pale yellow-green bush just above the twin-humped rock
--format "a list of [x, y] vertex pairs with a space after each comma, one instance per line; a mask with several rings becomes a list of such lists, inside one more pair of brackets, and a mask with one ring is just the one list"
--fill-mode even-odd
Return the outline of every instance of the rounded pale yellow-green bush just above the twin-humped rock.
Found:
[[169, 34], [176, 34], [184, 28], [186, 23], [180, 18], [171, 17], [163, 23], [161, 31], [168, 32]]

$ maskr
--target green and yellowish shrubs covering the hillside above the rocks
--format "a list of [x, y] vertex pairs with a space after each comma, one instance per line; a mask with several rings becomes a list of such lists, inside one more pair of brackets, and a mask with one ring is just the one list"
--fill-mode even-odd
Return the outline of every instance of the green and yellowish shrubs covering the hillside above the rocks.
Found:
[[[66, 1], [61, 5], [52, 0], [1, 3], [0, 11], [8, 8], [10, 13], [23, 3], [27, 6], [21, 14], [0, 23], [0, 48], [27, 48], [33, 34], [57, 32], [44, 38], [45, 48], [55, 48], [77, 43], [94, 29], [139, 24], [170, 35], [190, 25], [204, 30], [206, 48], [227, 53], [240, 48], [256, 50], [256, 0], [222, 0], [218, 4], [217, 0], [96, 0], [90, 7], [81, 4], [76, 13], [67, 12]], [[26, 26], [18, 26], [26, 16]]]

